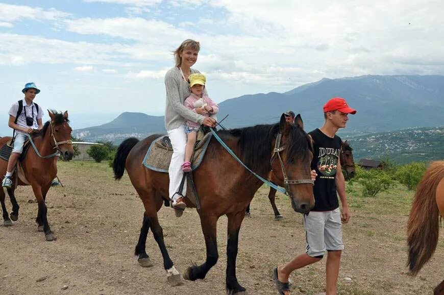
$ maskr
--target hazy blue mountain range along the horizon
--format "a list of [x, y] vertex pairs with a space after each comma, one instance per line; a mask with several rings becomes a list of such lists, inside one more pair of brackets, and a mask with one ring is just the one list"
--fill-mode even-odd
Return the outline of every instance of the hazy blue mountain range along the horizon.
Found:
[[[211, 94], [211, 90], [210, 90]], [[444, 125], [444, 76], [361, 76], [322, 79], [285, 93], [243, 95], [219, 104], [227, 128], [277, 122], [286, 110], [301, 113], [307, 131], [324, 122], [322, 107], [334, 96], [347, 99], [358, 110], [350, 115], [343, 135], [384, 132], [412, 127]], [[122, 113], [108, 124], [75, 130], [73, 135], [88, 141], [129, 136], [143, 138], [164, 133], [162, 116]]]

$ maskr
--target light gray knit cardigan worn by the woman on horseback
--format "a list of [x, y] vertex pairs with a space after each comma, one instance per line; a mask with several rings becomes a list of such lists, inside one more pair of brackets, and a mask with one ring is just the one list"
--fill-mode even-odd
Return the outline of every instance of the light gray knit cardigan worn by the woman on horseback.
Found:
[[[200, 71], [190, 69], [191, 73]], [[166, 105], [165, 128], [171, 130], [185, 124], [185, 120], [202, 124], [204, 116], [196, 114], [184, 106], [185, 99], [191, 94], [189, 84], [182, 79], [178, 67], [169, 69], [165, 74]], [[206, 92], [206, 90], [205, 90]]]

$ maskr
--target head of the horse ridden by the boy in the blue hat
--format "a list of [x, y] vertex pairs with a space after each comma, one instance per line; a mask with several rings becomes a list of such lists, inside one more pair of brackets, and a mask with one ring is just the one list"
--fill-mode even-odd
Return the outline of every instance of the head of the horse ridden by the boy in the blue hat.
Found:
[[68, 111], [62, 114], [48, 110], [48, 114], [51, 118], [51, 136], [54, 149], [60, 152], [63, 160], [69, 161], [74, 156], [74, 149], [71, 141], [72, 129], [68, 124]]

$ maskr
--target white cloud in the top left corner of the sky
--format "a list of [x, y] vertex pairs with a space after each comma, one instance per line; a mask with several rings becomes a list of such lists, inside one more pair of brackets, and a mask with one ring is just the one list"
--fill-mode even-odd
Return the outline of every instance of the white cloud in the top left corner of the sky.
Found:
[[54, 8], [43, 10], [39, 7], [30, 7], [24, 5], [10, 5], [0, 3], [0, 20], [12, 22], [20, 19], [34, 20], [57, 20], [68, 17], [70, 14], [58, 11]]

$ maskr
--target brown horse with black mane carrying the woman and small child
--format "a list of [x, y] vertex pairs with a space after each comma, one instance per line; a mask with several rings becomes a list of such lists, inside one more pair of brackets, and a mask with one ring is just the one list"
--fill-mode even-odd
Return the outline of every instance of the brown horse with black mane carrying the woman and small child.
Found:
[[[302, 126], [300, 116], [298, 122], [298, 126], [290, 125], [282, 114], [279, 124], [218, 131], [217, 134], [261, 177], [267, 177], [273, 169], [278, 184], [284, 185], [285, 178], [285, 188], [293, 209], [307, 213], [314, 206], [310, 176], [310, 162], [313, 156], [311, 141], [300, 127]], [[180, 283], [181, 276], [168, 255], [157, 215], [162, 207], [163, 198], [168, 196], [168, 174], [147, 169], [142, 164], [146, 151], [157, 137], [158, 135], [152, 135], [140, 142], [135, 138], [129, 138], [122, 142], [114, 159], [114, 176], [120, 179], [127, 169], [131, 183], [145, 208], [139, 241], [135, 249], [139, 263], [143, 266], [152, 265], [145, 252], [146, 235], [151, 227], [163, 256], [168, 282], [176, 285]], [[280, 148], [273, 149], [273, 147]], [[190, 266], [184, 278], [192, 281], [204, 279], [210, 268], [216, 264], [219, 257], [216, 242], [217, 219], [227, 215], [226, 287], [230, 293], [242, 293], [245, 288], [236, 278], [239, 230], [245, 216], [245, 208], [262, 182], [242, 167], [214, 136], [201, 165], [193, 171], [193, 179], [200, 196], [201, 209], [198, 213], [205, 237], [207, 257], [202, 265]], [[193, 206], [188, 200], [186, 204], [188, 207]]]

